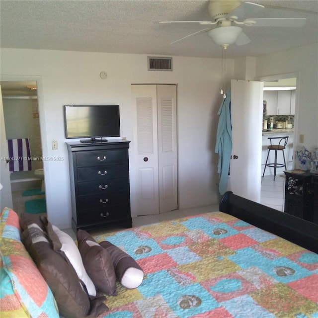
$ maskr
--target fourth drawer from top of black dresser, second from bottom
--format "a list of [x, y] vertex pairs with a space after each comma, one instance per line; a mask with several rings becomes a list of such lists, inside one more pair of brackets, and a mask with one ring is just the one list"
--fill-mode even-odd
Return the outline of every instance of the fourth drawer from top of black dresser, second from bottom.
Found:
[[118, 203], [129, 203], [129, 191], [118, 191], [106, 194], [93, 194], [78, 197], [80, 209], [109, 209]]

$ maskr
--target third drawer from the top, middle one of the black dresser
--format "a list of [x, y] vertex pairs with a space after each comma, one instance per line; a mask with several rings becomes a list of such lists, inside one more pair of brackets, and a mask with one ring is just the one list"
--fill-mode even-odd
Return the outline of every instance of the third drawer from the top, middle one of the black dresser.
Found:
[[104, 181], [86, 181], [78, 183], [78, 195], [87, 195], [87, 194], [107, 194], [110, 192], [129, 190], [129, 179], [117, 178], [117, 179], [108, 179]]

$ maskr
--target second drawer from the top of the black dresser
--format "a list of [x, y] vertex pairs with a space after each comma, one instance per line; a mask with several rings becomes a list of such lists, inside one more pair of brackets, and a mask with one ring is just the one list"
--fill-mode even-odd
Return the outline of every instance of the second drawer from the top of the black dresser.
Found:
[[77, 168], [78, 181], [107, 180], [127, 176], [127, 165], [103, 165], [87, 168]]

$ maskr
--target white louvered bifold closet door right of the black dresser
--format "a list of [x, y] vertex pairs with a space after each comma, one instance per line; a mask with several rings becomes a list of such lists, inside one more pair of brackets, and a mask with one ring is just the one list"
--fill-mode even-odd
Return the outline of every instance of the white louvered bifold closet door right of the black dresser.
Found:
[[176, 86], [132, 85], [137, 215], [177, 208]]

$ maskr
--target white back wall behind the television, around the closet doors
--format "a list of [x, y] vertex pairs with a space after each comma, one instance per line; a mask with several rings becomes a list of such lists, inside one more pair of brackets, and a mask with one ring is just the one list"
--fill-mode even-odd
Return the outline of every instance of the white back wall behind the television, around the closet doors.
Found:
[[[231, 60], [228, 66], [231, 73]], [[214, 148], [222, 101], [220, 69], [219, 59], [173, 57], [173, 72], [149, 72], [146, 55], [1, 49], [1, 80], [12, 75], [38, 80], [43, 156], [63, 159], [43, 162], [49, 220], [62, 229], [71, 227], [65, 104], [120, 105], [121, 136], [131, 140], [131, 188], [135, 187], [131, 83], [178, 84], [179, 207], [217, 203]], [[99, 78], [101, 71], [107, 79]], [[58, 141], [57, 150], [51, 149], [52, 140]]]

